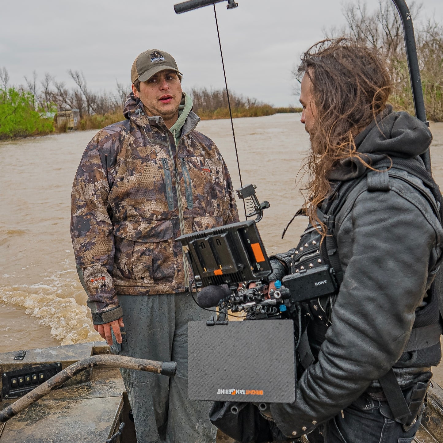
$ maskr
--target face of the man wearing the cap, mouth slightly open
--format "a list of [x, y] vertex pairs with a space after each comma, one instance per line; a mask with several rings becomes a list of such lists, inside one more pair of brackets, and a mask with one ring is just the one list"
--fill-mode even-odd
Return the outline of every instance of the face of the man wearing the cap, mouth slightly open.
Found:
[[140, 97], [148, 116], [163, 117], [165, 123], [178, 117], [182, 85], [175, 71], [160, 71], [146, 82], [140, 82], [140, 91], [132, 85], [132, 92]]

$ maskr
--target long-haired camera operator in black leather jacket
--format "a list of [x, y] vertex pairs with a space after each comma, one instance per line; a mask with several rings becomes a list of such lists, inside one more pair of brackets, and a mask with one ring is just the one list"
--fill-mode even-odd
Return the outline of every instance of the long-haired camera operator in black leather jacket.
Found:
[[[431, 132], [387, 105], [391, 80], [376, 50], [321, 42], [303, 54], [298, 74], [311, 140], [310, 223], [296, 248], [271, 257], [270, 280], [329, 264], [339, 289], [303, 307], [295, 402], [271, 404], [250, 425], [269, 420], [275, 441], [411, 442], [441, 358], [431, 288], [441, 194], [420, 158]], [[269, 437], [251, 438], [244, 441]]]

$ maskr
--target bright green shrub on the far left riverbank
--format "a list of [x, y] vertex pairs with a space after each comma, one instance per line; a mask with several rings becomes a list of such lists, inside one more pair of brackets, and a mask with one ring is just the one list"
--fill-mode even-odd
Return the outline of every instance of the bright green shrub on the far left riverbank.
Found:
[[51, 118], [40, 117], [29, 91], [0, 89], [0, 139], [49, 134], [54, 131]]

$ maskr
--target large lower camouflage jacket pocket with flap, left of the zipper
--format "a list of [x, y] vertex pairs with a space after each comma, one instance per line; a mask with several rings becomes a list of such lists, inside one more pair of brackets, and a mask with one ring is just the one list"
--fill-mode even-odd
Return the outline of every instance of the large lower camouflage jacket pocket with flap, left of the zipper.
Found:
[[[114, 264], [123, 278], [141, 284], [171, 283], [175, 279], [171, 220], [132, 223], [130, 227], [115, 229], [114, 234]], [[122, 235], [125, 238], [119, 237]]]

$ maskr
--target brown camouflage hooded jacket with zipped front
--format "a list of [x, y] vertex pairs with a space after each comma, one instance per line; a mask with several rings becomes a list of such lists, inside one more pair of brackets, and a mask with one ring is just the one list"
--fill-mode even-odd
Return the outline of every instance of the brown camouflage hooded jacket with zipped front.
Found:
[[94, 324], [121, 317], [116, 293], [183, 292], [189, 271], [175, 238], [238, 221], [229, 172], [195, 131], [196, 114], [177, 147], [132, 93], [124, 116], [89, 142], [72, 189], [71, 237]]

